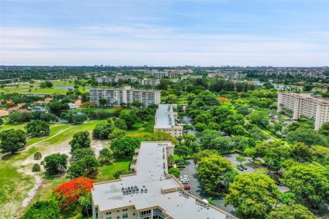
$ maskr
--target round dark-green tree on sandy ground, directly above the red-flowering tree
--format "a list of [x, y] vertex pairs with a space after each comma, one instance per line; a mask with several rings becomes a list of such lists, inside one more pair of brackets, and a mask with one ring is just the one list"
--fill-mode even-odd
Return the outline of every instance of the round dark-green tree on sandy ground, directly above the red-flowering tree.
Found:
[[45, 170], [49, 175], [64, 172], [66, 170], [67, 155], [54, 153], [45, 157]]

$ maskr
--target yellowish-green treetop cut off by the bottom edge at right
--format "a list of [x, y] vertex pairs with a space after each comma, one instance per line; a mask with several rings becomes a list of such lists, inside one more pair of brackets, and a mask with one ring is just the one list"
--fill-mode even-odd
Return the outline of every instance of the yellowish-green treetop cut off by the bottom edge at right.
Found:
[[273, 209], [266, 219], [317, 219], [317, 217], [303, 205], [296, 204], [281, 205]]

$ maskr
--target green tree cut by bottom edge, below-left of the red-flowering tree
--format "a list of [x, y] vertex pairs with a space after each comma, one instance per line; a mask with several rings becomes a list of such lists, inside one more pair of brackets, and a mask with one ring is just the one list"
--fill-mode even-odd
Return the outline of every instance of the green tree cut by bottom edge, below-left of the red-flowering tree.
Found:
[[60, 219], [60, 207], [53, 200], [37, 201], [21, 219]]

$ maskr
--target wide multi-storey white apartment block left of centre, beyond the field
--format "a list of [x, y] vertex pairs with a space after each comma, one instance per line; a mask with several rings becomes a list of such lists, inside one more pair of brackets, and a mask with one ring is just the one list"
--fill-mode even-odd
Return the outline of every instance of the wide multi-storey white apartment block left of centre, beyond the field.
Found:
[[147, 107], [160, 103], [160, 90], [138, 90], [130, 86], [124, 88], [90, 88], [90, 102], [99, 106], [99, 99], [107, 100], [107, 107], [139, 101]]

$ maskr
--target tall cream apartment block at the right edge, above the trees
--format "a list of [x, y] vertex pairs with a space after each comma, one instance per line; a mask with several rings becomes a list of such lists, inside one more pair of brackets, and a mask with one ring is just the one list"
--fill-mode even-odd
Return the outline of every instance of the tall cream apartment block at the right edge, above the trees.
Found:
[[280, 92], [278, 94], [278, 112], [292, 110], [293, 118], [300, 116], [315, 118], [315, 130], [329, 121], [329, 100], [319, 95]]

